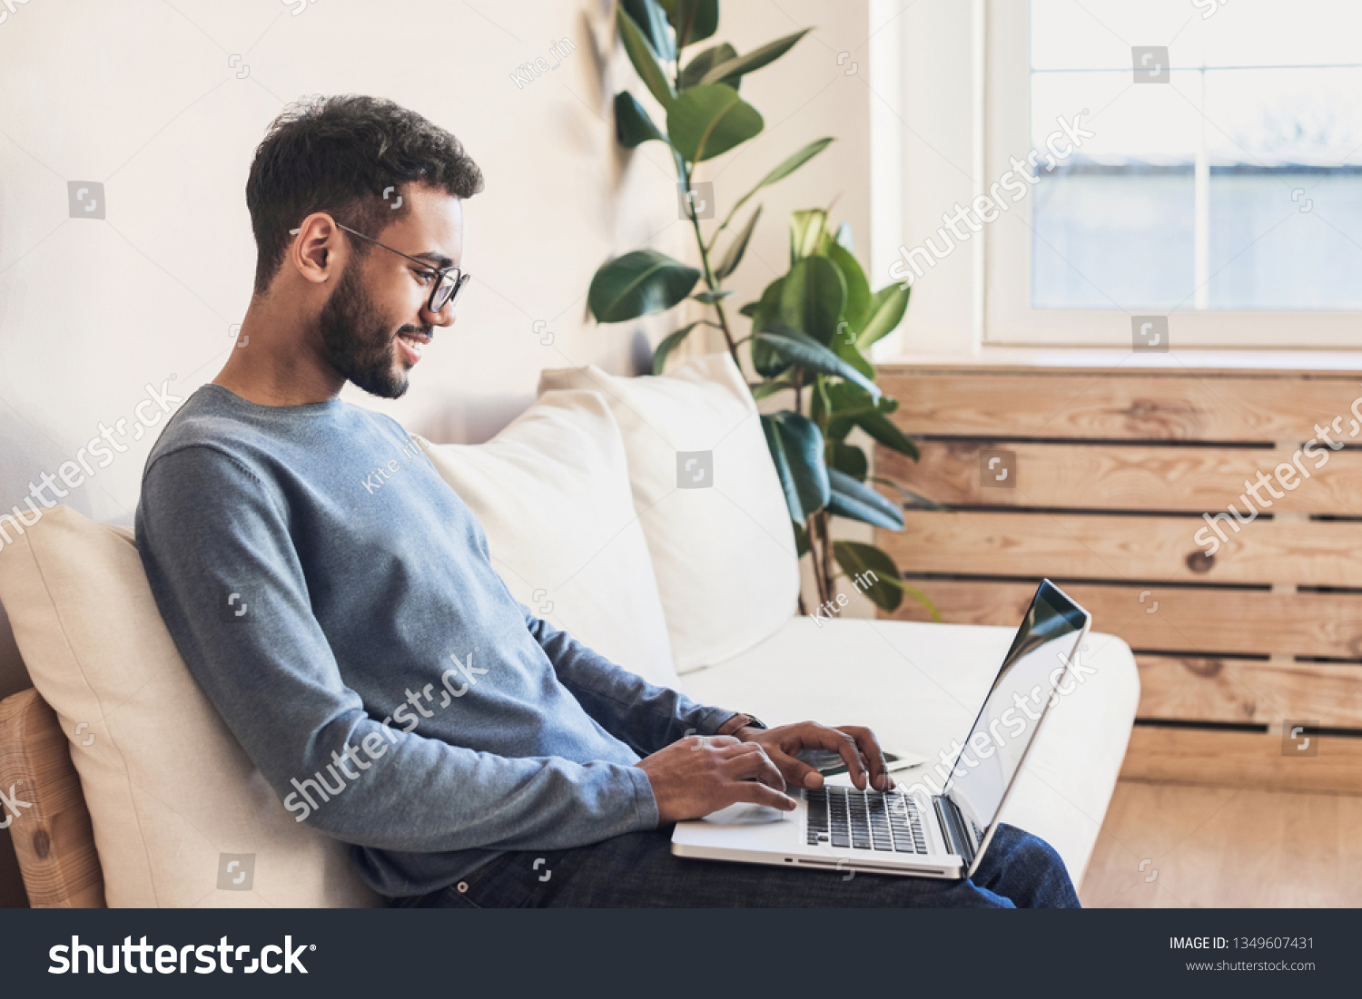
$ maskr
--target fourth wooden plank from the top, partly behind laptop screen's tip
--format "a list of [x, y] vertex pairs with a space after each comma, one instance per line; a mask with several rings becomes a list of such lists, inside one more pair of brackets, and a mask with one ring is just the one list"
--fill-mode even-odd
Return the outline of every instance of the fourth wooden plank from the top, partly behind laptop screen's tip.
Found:
[[[885, 535], [881, 535], [878, 543], [884, 542]], [[910, 581], [932, 597], [945, 621], [959, 625], [1015, 627], [1035, 593], [1032, 583], [911, 576]], [[1362, 657], [1362, 593], [1272, 593], [1156, 584], [1107, 587], [1068, 581], [1060, 585], [1092, 614], [1094, 629], [1118, 634], [1136, 649]], [[930, 619], [915, 600], [904, 600], [898, 611], [883, 617]]]

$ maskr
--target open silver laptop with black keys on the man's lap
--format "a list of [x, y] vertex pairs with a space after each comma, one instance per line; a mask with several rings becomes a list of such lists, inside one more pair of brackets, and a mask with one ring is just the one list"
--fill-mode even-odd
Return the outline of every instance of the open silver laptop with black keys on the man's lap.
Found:
[[[671, 852], [733, 860], [915, 878], [968, 878], [989, 848], [1027, 753], [1058, 698], [1072, 690], [1091, 615], [1049, 580], [1041, 583], [974, 725], [949, 770], [917, 773], [893, 791], [857, 791], [847, 777], [789, 788], [794, 811], [733, 804], [678, 822]], [[925, 769], [925, 768], [923, 768]]]

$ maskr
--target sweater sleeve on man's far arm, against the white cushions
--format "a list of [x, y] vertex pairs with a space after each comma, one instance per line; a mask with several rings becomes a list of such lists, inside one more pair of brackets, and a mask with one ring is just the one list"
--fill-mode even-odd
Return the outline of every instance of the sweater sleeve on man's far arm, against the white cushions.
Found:
[[537, 618], [524, 604], [520, 610], [563, 686], [603, 730], [639, 755], [686, 735], [714, 735], [733, 717], [731, 710], [706, 708], [677, 690], [648, 683]]

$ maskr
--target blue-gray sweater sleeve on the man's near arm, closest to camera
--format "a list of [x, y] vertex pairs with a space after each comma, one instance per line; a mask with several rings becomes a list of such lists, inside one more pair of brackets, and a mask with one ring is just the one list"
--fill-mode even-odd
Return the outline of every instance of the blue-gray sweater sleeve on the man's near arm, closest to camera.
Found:
[[369, 717], [312, 612], [285, 497], [225, 452], [157, 457], [136, 520], [180, 655], [296, 821], [410, 852], [564, 849], [656, 826], [637, 768], [507, 758]]

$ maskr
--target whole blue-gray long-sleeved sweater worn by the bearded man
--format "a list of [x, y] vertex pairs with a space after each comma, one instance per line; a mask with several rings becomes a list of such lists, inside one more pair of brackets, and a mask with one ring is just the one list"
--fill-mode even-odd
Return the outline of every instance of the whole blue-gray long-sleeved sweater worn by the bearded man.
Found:
[[421, 448], [340, 400], [203, 385], [147, 459], [136, 536], [199, 686], [385, 896], [655, 828], [633, 764], [733, 715], [534, 617]]

